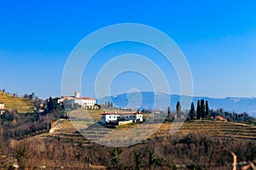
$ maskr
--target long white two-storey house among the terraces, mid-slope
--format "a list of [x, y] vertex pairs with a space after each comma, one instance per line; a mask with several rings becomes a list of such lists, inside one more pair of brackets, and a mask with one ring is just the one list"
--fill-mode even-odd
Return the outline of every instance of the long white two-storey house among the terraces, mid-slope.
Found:
[[118, 123], [125, 124], [129, 122], [143, 122], [143, 113], [142, 112], [104, 112], [102, 113], [103, 124], [106, 123]]

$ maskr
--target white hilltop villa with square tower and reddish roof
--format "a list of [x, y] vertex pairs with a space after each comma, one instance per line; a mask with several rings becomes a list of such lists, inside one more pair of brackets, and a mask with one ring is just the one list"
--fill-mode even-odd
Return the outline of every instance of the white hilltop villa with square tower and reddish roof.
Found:
[[80, 105], [82, 109], [98, 109], [96, 99], [90, 97], [81, 97], [80, 92], [75, 92], [74, 96], [61, 96], [58, 103], [64, 102], [65, 105]]

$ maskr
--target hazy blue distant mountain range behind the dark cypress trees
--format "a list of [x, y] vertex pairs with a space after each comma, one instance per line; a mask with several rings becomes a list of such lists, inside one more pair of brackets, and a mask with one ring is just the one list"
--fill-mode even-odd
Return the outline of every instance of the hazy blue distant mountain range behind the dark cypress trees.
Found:
[[[182, 96], [183, 99], [189, 98], [189, 96]], [[180, 95], [170, 95], [154, 92], [141, 92], [141, 93], [129, 93], [119, 94], [116, 96], [103, 97], [97, 99], [99, 104], [105, 104], [108, 101], [113, 101], [113, 105], [122, 108], [132, 109], [146, 109], [146, 110], [162, 110], [166, 111], [168, 106], [168, 99], [170, 99], [171, 110], [174, 111], [177, 101], [180, 101]], [[256, 98], [233, 98], [228, 97], [224, 99], [208, 98], [208, 97], [193, 97], [195, 108], [197, 100], [205, 99], [209, 102], [210, 109], [216, 110], [219, 108], [224, 111], [236, 111], [238, 113], [246, 111], [251, 116], [256, 116]], [[139, 105], [141, 104], [141, 105]], [[183, 105], [183, 104], [181, 104]]]

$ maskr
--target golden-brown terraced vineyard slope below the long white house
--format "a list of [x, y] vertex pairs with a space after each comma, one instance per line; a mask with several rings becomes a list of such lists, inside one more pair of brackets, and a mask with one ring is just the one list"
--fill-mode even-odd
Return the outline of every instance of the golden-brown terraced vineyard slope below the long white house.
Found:
[[[82, 121], [79, 122], [80, 124]], [[75, 125], [76, 126], [76, 125]], [[44, 139], [60, 138], [65, 141], [72, 139], [82, 139], [84, 145], [90, 145], [92, 142], [100, 144], [134, 144], [150, 136], [169, 136], [170, 128], [175, 124], [163, 123], [134, 126], [125, 129], [111, 129], [103, 127], [97, 123], [87, 128], [75, 128], [72, 122], [64, 121], [55, 130], [55, 133], [41, 135]], [[138, 129], [139, 127], [139, 129]], [[155, 129], [157, 129], [155, 131]], [[136, 130], [137, 133], [134, 133]], [[80, 133], [79, 133], [79, 132]], [[84, 135], [84, 137], [81, 135]], [[188, 133], [206, 134], [218, 138], [232, 139], [256, 139], [256, 127], [236, 122], [212, 122], [212, 121], [195, 121], [184, 122], [182, 127], [177, 130], [176, 134], [186, 135]]]

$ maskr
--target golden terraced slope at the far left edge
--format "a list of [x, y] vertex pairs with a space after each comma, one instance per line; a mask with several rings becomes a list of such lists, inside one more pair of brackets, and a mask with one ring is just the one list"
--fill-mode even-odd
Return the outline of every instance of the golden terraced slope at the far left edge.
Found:
[[0, 102], [4, 103], [4, 106], [9, 111], [17, 109], [19, 113], [26, 113], [33, 111], [33, 101], [28, 99], [22, 99], [14, 97], [13, 95], [0, 92]]

